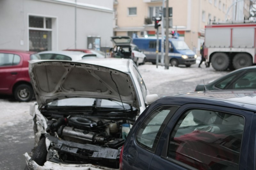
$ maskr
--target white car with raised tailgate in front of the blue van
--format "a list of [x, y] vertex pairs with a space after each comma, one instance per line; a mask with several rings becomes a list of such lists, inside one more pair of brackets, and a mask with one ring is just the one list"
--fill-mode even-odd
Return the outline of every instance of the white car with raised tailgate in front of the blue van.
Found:
[[112, 57], [115, 58], [131, 58], [137, 65], [145, 64], [146, 55], [135, 45], [132, 44], [132, 38], [129, 36], [111, 37], [115, 44], [112, 49]]

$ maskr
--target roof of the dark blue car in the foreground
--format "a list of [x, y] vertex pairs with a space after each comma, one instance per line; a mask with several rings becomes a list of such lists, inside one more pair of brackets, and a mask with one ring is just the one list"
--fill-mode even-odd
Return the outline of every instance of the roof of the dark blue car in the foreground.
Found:
[[212, 90], [181, 93], [165, 96], [157, 103], [184, 105], [189, 103], [214, 104], [216, 106], [241, 108], [256, 113], [256, 91], [252, 90]]

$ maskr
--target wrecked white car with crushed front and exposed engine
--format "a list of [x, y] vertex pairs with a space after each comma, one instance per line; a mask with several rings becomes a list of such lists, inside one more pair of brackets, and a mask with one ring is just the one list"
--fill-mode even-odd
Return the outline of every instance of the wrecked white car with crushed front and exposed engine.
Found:
[[131, 59], [30, 61], [37, 103], [25, 169], [118, 169], [130, 127], [149, 95]]

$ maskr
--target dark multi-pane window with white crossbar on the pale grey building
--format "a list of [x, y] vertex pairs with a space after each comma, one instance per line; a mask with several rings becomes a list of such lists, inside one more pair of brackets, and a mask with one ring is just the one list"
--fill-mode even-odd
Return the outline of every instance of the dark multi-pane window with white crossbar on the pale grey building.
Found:
[[52, 18], [29, 16], [29, 51], [52, 50]]

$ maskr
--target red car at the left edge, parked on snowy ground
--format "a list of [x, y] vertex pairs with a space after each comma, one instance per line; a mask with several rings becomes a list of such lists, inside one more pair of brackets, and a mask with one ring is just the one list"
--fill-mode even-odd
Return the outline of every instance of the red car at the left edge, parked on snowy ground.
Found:
[[18, 101], [30, 101], [34, 91], [28, 74], [28, 60], [40, 59], [36, 52], [0, 50], [0, 93]]

